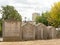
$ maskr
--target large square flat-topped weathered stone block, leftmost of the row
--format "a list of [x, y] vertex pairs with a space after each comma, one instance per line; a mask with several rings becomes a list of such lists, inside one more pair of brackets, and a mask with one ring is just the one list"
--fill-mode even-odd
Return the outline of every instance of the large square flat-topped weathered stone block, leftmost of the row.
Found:
[[4, 21], [3, 22], [3, 40], [13, 40], [13, 37], [16, 37], [16, 40], [21, 40], [21, 29], [19, 21]]

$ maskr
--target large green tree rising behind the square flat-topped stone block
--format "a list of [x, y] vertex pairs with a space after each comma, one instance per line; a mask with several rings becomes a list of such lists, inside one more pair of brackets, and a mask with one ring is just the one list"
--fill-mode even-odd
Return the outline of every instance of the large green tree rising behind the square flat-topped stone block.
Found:
[[2, 6], [2, 19], [22, 21], [21, 15], [13, 6]]

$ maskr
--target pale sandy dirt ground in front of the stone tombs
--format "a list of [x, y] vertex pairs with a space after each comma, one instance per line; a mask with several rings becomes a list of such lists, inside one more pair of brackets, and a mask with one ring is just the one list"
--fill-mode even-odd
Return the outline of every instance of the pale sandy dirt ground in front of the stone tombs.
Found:
[[0, 45], [60, 45], [60, 39], [20, 41], [20, 42], [0, 42]]

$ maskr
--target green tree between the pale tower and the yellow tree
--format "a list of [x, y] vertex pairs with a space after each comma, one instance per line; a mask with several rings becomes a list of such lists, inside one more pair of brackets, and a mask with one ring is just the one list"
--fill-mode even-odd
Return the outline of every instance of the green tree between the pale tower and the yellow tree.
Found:
[[45, 12], [45, 13], [42, 13], [41, 16], [37, 16], [36, 17], [36, 23], [43, 23], [45, 25], [48, 25], [48, 21], [47, 21], [47, 18], [48, 18], [48, 15], [49, 15], [49, 12]]

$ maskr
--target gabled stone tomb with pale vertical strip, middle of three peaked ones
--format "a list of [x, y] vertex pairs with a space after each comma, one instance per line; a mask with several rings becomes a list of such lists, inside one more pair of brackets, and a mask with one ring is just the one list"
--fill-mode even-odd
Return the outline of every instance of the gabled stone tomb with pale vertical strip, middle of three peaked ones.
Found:
[[36, 25], [36, 39], [47, 39], [47, 37], [47, 27], [42, 23], [38, 23]]

